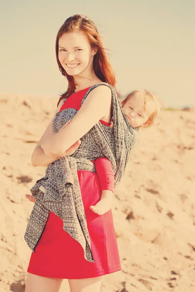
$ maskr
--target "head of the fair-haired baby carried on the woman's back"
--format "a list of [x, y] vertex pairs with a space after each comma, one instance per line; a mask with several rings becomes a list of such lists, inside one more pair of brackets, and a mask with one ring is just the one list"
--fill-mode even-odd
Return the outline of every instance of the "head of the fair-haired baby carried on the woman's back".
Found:
[[132, 127], [148, 128], [156, 125], [156, 115], [161, 110], [162, 103], [154, 93], [140, 89], [129, 93], [121, 106]]

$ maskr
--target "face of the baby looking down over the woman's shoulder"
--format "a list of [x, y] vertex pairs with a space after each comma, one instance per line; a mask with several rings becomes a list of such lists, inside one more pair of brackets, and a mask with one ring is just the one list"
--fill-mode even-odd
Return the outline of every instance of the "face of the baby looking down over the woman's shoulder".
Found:
[[136, 93], [122, 106], [122, 110], [129, 124], [136, 128], [148, 121], [154, 107], [148, 105], [144, 110], [144, 97]]

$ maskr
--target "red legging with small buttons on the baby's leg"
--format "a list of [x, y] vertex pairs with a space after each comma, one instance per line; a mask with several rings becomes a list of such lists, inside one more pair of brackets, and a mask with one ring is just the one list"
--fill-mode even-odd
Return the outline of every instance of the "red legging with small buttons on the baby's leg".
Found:
[[115, 176], [110, 160], [100, 157], [95, 161], [96, 172], [100, 184], [100, 189], [114, 192]]

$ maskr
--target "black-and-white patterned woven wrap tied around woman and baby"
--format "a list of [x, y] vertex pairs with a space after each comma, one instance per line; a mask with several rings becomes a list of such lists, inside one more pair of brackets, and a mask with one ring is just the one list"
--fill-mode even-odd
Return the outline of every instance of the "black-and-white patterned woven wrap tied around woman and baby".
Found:
[[[63, 229], [82, 246], [85, 259], [95, 262], [91, 252], [77, 170], [96, 172], [90, 160], [107, 157], [113, 166], [116, 187], [137, 141], [137, 128], [129, 125], [116, 91], [111, 85], [104, 82], [93, 85], [84, 95], [81, 105], [87, 95], [101, 85], [108, 86], [112, 91], [114, 127], [110, 128], [98, 122], [80, 138], [81, 144], [73, 155], [50, 164], [45, 177], [31, 188], [36, 202], [24, 238], [33, 252], [43, 233], [49, 211], [52, 211], [63, 220]], [[72, 108], [59, 111], [53, 121], [53, 133], [57, 133], [77, 111]]]

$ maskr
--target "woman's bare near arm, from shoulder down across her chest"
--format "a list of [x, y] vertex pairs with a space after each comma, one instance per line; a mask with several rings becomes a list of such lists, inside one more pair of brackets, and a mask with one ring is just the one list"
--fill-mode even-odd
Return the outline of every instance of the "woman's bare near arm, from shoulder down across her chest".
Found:
[[56, 134], [42, 139], [40, 146], [50, 157], [60, 156], [85, 135], [99, 120], [108, 116], [112, 107], [112, 92], [107, 86], [98, 86], [89, 93], [71, 123]]

